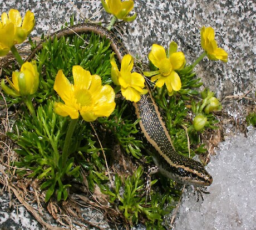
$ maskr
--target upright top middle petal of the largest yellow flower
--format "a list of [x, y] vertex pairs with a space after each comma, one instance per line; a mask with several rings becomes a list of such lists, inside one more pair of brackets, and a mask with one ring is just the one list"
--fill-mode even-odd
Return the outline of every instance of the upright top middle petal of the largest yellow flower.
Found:
[[80, 89], [88, 89], [91, 85], [92, 76], [90, 71], [87, 71], [80, 67], [80, 65], [74, 65], [73, 69], [74, 86]]

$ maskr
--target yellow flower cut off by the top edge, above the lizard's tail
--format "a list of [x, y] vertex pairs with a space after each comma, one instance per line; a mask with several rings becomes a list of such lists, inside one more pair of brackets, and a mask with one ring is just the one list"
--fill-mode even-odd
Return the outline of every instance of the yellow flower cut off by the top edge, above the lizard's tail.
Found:
[[107, 13], [113, 14], [116, 18], [127, 22], [134, 21], [137, 14], [127, 17], [130, 11], [134, 8], [134, 1], [121, 0], [101, 0], [102, 6]]

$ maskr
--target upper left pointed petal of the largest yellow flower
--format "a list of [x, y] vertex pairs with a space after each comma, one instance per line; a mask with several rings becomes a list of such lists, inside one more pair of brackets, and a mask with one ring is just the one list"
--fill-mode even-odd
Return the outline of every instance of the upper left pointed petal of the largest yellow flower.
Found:
[[63, 74], [62, 70], [58, 70], [53, 89], [65, 103], [70, 101], [71, 95], [73, 95], [72, 84]]

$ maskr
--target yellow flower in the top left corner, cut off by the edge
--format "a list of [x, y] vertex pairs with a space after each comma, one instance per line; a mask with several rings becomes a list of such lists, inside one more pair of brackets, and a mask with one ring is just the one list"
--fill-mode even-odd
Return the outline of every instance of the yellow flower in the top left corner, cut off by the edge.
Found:
[[14, 44], [24, 42], [35, 26], [35, 16], [27, 11], [23, 22], [17, 9], [2, 13], [0, 21], [0, 56], [6, 55]]

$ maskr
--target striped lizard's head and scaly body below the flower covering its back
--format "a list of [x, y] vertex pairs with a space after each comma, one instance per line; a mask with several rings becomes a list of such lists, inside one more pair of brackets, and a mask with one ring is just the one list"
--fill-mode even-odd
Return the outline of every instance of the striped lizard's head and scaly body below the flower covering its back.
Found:
[[196, 185], [197, 181], [204, 183], [212, 180], [200, 162], [179, 155], [174, 151], [150, 94], [141, 96], [140, 101], [137, 103], [137, 108], [141, 118], [142, 130], [144, 129], [150, 139], [155, 141], [161, 151], [155, 163], [159, 166], [159, 171], [164, 176], [177, 182], [191, 185]]

